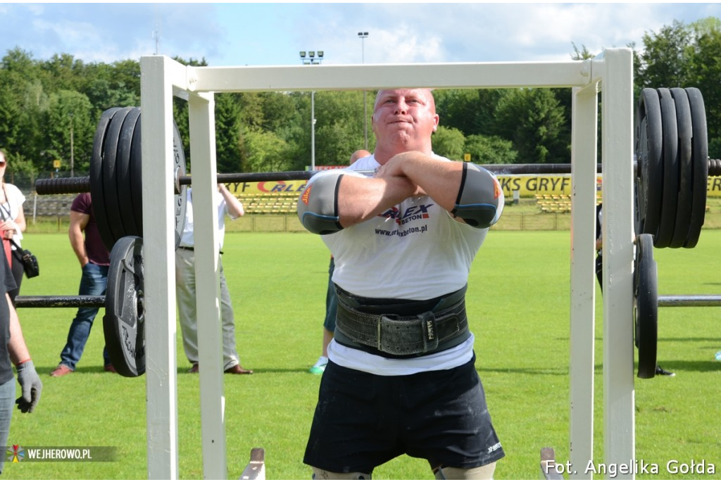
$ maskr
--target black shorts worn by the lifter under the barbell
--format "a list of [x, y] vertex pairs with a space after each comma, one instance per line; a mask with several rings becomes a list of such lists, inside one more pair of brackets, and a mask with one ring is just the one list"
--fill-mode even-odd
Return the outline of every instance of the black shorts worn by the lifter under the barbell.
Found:
[[424, 458], [431, 468], [475, 468], [502, 458], [474, 360], [391, 377], [329, 362], [304, 463], [373, 473], [402, 454]]

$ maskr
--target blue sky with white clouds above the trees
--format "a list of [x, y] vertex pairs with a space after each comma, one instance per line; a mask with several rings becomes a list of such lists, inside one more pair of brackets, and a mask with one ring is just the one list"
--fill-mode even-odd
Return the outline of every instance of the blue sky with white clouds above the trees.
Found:
[[573, 45], [640, 47], [645, 33], [705, 17], [721, 18], [721, 4], [2, 3], [0, 51], [211, 66], [293, 65], [300, 50], [323, 50], [325, 64], [567, 61]]

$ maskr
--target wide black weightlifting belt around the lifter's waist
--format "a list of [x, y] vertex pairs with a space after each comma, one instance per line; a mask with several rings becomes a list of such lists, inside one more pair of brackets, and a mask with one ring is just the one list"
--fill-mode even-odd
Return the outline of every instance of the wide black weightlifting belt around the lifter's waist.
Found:
[[470, 336], [466, 287], [433, 300], [362, 298], [336, 285], [334, 338], [347, 347], [410, 358], [455, 347]]

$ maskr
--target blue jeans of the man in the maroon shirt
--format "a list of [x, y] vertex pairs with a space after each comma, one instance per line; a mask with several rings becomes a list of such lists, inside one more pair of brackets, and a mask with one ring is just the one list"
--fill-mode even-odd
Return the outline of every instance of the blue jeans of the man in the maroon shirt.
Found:
[[[88, 263], [83, 267], [83, 276], [80, 279], [79, 295], [99, 296], [105, 295], [107, 288], [107, 271], [110, 267], [98, 266]], [[68, 342], [60, 354], [60, 362], [71, 370], [80, 361], [85, 349], [85, 343], [90, 336], [92, 322], [97, 315], [99, 308], [78, 308], [78, 313], [70, 325]], [[110, 357], [107, 356], [107, 349], [102, 350], [104, 365], [110, 365]]]

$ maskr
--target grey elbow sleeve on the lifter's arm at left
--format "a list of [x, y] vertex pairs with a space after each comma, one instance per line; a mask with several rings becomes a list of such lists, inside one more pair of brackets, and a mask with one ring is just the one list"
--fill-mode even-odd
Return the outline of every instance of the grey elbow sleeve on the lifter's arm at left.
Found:
[[340, 231], [338, 186], [342, 172], [322, 172], [310, 179], [298, 198], [298, 219], [311, 233], [332, 234]]

